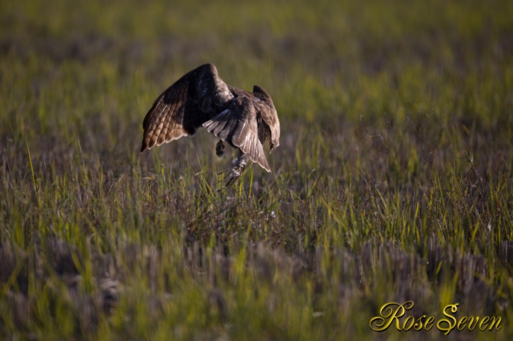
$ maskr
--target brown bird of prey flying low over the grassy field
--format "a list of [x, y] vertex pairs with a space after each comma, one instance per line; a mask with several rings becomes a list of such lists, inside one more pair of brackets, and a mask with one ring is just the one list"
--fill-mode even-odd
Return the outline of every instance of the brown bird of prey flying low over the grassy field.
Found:
[[258, 85], [249, 93], [224, 83], [213, 64], [195, 68], [167, 88], [142, 127], [141, 152], [194, 135], [198, 127], [219, 137], [218, 157], [224, 152], [223, 142], [238, 149], [226, 186], [241, 176], [248, 159], [271, 172], [263, 145], [269, 140], [270, 151], [279, 146], [280, 125], [271, 96]]

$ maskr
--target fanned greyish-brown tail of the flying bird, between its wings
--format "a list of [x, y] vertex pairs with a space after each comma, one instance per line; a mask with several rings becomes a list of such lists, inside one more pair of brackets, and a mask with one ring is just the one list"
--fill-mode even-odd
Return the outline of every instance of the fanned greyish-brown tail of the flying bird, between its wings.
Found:
[[233, 147], [238, 147], [252, 162], [271, 172], [258, 137], [257, 111], [252, 100], [246, 96], [234, 100], [226, 110], [204, 122], [203, 127]]

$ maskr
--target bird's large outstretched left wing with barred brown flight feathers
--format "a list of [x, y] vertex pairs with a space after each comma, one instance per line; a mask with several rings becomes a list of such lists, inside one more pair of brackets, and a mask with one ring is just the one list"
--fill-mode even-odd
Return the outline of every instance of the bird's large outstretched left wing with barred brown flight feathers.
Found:
[[193, 135], [203, 122], [219, 113], [219, 106], [231, 100], [229, 87], [212, 64], [195, 68], [162, 93], [142, 128], [141, 152], [182, 136]]

